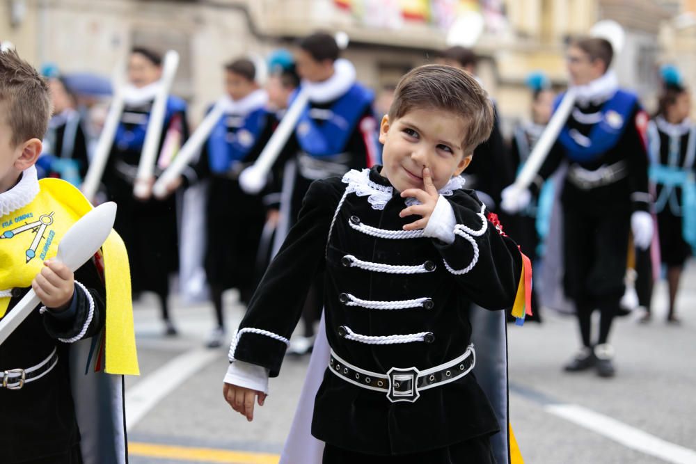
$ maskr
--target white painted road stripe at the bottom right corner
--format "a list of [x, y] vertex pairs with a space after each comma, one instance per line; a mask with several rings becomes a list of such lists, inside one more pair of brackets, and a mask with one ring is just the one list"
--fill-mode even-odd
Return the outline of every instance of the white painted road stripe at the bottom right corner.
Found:
[[625, 447], [661, 458], [668, 463], [695, 464], [696, 451], [657, 438], [606, 415], [595, 413], [577, 404], [548, 404], [546, 412], [604, 435]]

